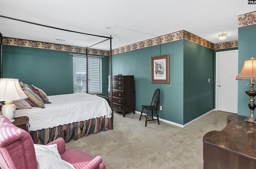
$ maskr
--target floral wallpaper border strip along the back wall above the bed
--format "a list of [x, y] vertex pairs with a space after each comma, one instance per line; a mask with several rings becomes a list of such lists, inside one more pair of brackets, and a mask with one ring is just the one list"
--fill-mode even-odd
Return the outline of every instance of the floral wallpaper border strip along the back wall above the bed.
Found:
[[[58, 45], [58, 44], [53, 44], [53, 43], [44, 43], [44, 42], [30, 41], [30, 40], [24, 40], [24, 39], [14, 39], [14, 38], [9, 38], [9, 37], [3, 37], [3, 45], [34, 47], [34, 48], [39, 48], [39, 49], [50, 49], [50, 50], [57, 50], [57, 51], [86, 53], [85, 47]], [[98, 49], [88, 49], [88, 54], [109, 56], [110, 51], [104, 51], [104, 50], [98, 50]]]

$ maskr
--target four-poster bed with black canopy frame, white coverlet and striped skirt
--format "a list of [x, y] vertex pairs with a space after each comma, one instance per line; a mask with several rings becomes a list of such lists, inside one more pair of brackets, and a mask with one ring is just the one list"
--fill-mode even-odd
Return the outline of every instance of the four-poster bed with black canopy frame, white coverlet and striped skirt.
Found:
[[[96, 37], [101, 39], [101, 41], [98, 43], [90, 44], [89, 46], [86, 46], [85, 53], [86, 53], [87, 64], [88, 64], [88, 49], [90, 49], [90, 47], [94, 45], [97, 45], [99, 43], [109, 40], [110, 41], [110, 52], [109, 52], [110, 100], [112, 100], [113, 95], [112, 95], [112, 37], [111, 35], [110, 37], [93, 35], [90, 33], [83, 33], [78, 31], [62, 29], [62, 28], [56, 28], [52, 26], [46, 26], [46, 25], [42, 25], [34, 22], [28, 22], [28, 21], [20, 20], [16, 18], [10, 18], [6, 16], [0, 16], [0, 17], [10, 19], [15, 22], [24, 22], [26, 24], [33, 24], [33, 25], [42, 26], [45, 28], [57, 29], [59, 31], [64, 31], [64, 32], [69, 32], [74, 34], [79, 33], [83, 36], [86, 36], [86, 38]], [[0, 33], [0, 38], [1, 38], [0, 78], [3, 78], [2, 33]], [[88, 73], [88, 66], [86, 66], [86, 73]], [[86, 79], [86, 84], [88, 84], [88, 79]], [[16, 110], [16, 117], [28, 116], [29, 122], [30, 122], [30, 135], [32, 136], [34, 143], [47, 144], [60, 137], [64, 138], [65, 142], [67, 143], [71, 139], [77, 140], [78, 138], [85, 137], [88, 134], [95, 134], [100, 131], [113, 129], [113, 103], [109, 102], [108, 97], [104, 97], [104, 96], [100, 97], [94, 94], [88, 94], [88, 86], [86, 86], [86, 93], [68, 94], [68, 95], [64, 94], [64, 95], [56, 95], [56, 96], [48, 96], [48, 97], [52, 103], [44, 104], [45, 108], [35, 107], [35, 108]], [[89, 101], [86, 103], [86, 101], [82, 99], [87, 99]], [[101, 100], [100, 102], [102, 102], [101, 104], [103, 105], [100, 108], [98, 107], [98, 104], [96, 104], [97, 101], [95, 99]], [[71, 102], [71, 100], [74, 100], [76, 104]], [[78, 108], [78, 104], [80, 104], [82, 108], [81, 107]], [[96, 112], [96, 114], [91, 116], [91, 114], [89, 113], [90, 116], [84, 116], [85, 114], [86, 115], [88, 114], [88, 112], [86, 112], [87, 110]]]

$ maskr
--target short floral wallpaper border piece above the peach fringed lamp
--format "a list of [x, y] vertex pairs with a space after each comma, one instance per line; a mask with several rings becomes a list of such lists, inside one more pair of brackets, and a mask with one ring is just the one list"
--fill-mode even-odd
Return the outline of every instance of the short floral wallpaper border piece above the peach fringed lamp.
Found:
[[238, 16], [238, 28], [256, 24], [256, 11]]

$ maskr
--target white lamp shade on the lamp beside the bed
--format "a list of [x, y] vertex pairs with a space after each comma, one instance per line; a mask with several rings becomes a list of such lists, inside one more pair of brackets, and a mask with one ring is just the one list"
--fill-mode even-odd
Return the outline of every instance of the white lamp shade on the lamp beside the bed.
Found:
[[28, 98], [20, 87], [18, 79], [0, 79], [0, 101]]

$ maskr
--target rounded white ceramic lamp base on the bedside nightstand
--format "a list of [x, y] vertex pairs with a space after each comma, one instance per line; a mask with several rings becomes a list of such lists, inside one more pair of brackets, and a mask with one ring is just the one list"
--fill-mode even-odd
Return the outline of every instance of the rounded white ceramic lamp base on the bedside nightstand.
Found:
[[2, 106], [2, 115], [7, 117], [11, 122], [14, 122], [14, 116], [16, 114], [16, 106], [12, 101], [5, 101]]

